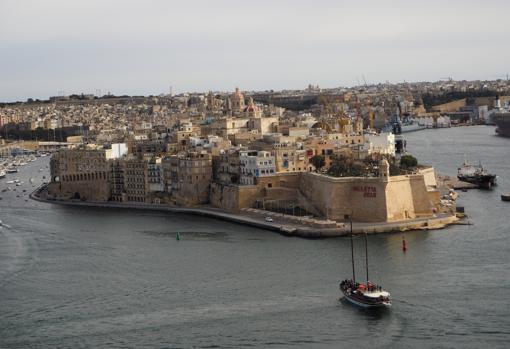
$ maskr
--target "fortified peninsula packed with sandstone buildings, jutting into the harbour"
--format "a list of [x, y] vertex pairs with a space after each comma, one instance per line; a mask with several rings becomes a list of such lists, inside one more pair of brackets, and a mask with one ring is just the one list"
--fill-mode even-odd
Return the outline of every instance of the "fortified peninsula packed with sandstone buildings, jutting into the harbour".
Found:
[[245, 104], [239, 89], [196, 103], [202, 113], [187, 107], [159, 120], [154, 105], [152, 122], [131, 121], [120, 141], [100, 142], [103, 131], [95, 142], [55, 144], [51, 181], [32, 197], [204, 214], [308, 237], [343, 235], [351, 218], [356, 232], [457, 221], [434, 169], [418, 165], [393, 133], [365, 127], [348, 104], [303, 118], [252, 98]]

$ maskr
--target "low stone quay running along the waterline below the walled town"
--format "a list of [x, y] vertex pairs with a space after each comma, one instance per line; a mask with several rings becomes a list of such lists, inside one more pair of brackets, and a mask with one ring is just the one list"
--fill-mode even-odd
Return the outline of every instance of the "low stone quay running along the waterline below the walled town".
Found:
[[[312, 219], [307, 217], [296, 217], [274, 212], [244, 209], [240, 213], [229, 213], [222, 209], [211, 206], [200, 207], [175, 207], [162, 204], [150, 203], [118, 203], [118, 202], [88, 202], [79, 200], [55, 200], [46, 197], [46, 185], [42, 185], [30, 194], [30, 198], [50, 204], [80, 206], [80, 207], [102, 207], [114, 209], [135, 209], [172, 213], [184, 213], [208, 218], [220, 219], [228, 222], [248, 225], [256, 228], [278, 232], [286, 236], [302, 238], [330, 238], [347, 236], [350, 233], [350, 226], [335, 221]], [[270, 216], [273, 222], [265, 221]], [[301, 218], [301, 220], [300, 220]], [[304, 221], [305, 219], [309, 221]], [[354, 234], [377, 234], [404, 232], [410, 230], [432, 230], [442, 229], [451, 224], [458, 224], [459, 219], [449, 213], [436, 214], [434, 217], [407, 219], [396, 222], [353, 222]]]

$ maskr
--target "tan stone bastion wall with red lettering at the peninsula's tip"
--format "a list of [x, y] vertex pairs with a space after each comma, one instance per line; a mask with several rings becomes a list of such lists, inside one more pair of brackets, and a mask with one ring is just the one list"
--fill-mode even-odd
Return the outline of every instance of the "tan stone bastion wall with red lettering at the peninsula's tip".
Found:
[[[425, 174], [335, 178], [302, 172], [265, 177], [257, 185], [211, 187], [211, 204], [238, 212], [257, 200], [294, 200], [309, 212], [342, 221], [345, 215], [361, 222], [391, 222], [432, 215], [436, 190], [427, 190], [433, 169]], [[435, 177], [433, 177], [435, 180]]]

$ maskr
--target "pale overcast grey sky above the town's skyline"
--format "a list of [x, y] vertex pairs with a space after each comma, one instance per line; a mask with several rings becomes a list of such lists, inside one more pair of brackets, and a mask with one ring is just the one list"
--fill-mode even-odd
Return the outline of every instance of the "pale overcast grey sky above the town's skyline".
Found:
[[506, 78], [509, 0], [0, 0], [0, 101]]

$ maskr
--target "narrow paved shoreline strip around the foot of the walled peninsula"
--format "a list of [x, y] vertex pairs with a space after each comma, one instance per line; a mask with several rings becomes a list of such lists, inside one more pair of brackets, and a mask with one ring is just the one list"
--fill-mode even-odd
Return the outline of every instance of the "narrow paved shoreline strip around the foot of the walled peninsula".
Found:
[[[279, 224], [275, 222], [266, 222], [263, 217], [260, 219], [252, 218], [248, 215], [229, 213], [219, 208], [214, 207], [173, 207], [158, 204], [145, 204], [145, 203], [115, 203], [115, 202], [90, 202], [90, 201], [64, 201], [47, 199], [39, 196], [39, 193], [46, 188], [46, 184], [41, 185], [30, 193], [30, 199], [38, 202], [76, 206], [76, 207], [96, 207], [96, 208], [116, 208], [116, 209], [134, 209], [146, 211], [159, 211], [171, 213], [185, 213], [196, 216], [220, 219], [227, 222], [233, 222], [240, 225], [248, 225], [260, 229], [270, 230], [280, 233], [285, 236], [296, 236], [301, 238], [331, 238], [348, 236], [350, 228], [348, 225], [337, 228], [316, 228], [305, 225], [296, 224]], [[281, 217], [284, 217], [283, 215]], [[459, 219], [455, 215], [440, 215], [437, 217], [416, 218], [406, 221], [397, 222], [377, 222], [377, 223], [362, 223], [353, 222], [354, 234], [380, 234], [380, 233], [395, 233], [405, 232], [411, 230], [435, 230], [443, 229], [449, 225], [458, 224]]]

